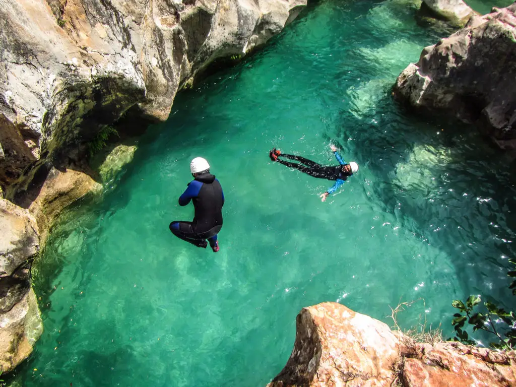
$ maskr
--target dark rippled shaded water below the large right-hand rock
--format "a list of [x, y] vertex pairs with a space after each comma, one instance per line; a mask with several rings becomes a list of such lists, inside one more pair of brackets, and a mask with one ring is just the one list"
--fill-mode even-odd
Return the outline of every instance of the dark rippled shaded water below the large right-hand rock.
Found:
[[[344, 148], [348, 141], [356, 143], [358, 158], [383, 182], [375, 187], [383, 210], [401, 212], [414, 232], [451, 257], [464, 294], [480, 294], [510, 310], [513, 155], [497, 149], [473, 125], [409, 110], [388, 91], [365, 116], [341, 111], [336, 137]], [[402, 141], [392, 135], [400, 128]], [[482, 224], [472, 222], [475, 218]]]

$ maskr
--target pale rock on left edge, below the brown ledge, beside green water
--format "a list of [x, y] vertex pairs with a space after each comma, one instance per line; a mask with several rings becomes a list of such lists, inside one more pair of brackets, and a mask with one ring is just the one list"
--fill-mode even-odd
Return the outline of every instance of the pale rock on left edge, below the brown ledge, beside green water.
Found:
[[23, 361], [41, 334], [29, 267], [39, 251], [36, 220], [26, 209], [0, 199], [0, 371]]

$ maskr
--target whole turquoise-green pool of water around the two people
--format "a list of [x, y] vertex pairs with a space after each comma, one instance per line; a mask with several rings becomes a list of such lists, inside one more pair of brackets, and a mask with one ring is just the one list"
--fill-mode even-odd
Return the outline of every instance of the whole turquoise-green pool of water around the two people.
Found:
[[[440, 35], [418, 4], [324, 1], [262, 52], [180, 93], [133, 163], [56, 228], [36, 291], [45, 332], [25, 386], [263, 386], [285, 365], [301, 308], [336, 301], [392, 325], [451, 333], [451, 300], [508, 305], [511, 159], [474, 128], [414, 115], [396, 76]], [[360, 171], [331, 182], [268, 150]], [[220, 252], [173, 237], [206, 157], [225, 193]]]

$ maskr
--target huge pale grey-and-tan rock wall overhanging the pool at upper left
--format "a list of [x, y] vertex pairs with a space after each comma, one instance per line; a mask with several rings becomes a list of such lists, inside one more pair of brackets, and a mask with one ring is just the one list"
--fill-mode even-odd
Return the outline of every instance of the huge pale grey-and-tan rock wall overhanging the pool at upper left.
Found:
[[[306, 0], [0, 0], [0, 187], [84, 167], [128, 112], [166, 120], [184, 84], [279, 33]], [[46, 164], [46, 165], [45, 165]], [[48, 165], [50, 164], [50, 166]]]

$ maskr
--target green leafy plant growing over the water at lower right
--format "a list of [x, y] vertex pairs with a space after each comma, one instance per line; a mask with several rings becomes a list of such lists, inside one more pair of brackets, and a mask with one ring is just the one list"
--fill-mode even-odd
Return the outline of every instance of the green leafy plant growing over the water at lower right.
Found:
[[[516, 265], [515, 259], [510, 259], [509, 262]], [[511, 270], [507, 273], [509, 277], [516, 277], [516, 270]], [[513, 280], [509, 285], [512, 289], [512, 295], [516, 295], [516, 280]], [[464, 344], [474, 345], [475, 342], [470, 339], [464, 325], [469, 324], [473, 326], [473, 332], [483, 330], [494, 334], [497, 342], [489, 343], [495, 349], [514, 349], [516, 348], [516, 314], [512, 311], [506, 311], [503, 308], [498, 308], [492, 302], [484, 302], [486, 308], [485, 313], [475, 311], [478, 304], [481, 302], [480, 296], [470, 296], [466, 302], [454, 300], [451, 306], [458, 309], [461, 313], [455, 313], [451, 325], [455, 329], [455, 337], [448, 340], [460, 341]], [[494, 322], [501, 323], [504, 332], [498, 332]], [[503, 334], [502, 334], [503, 333]]]

